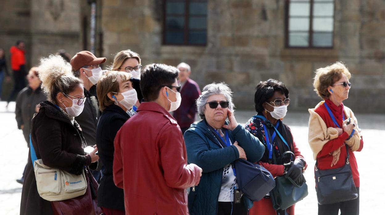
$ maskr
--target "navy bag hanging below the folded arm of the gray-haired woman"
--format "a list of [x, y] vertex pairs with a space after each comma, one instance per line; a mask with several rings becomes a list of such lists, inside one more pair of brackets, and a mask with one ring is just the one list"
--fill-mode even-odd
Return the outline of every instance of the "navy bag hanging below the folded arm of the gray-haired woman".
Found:
[[261, 165], [238, 159], [234, 162], [238, 188], [253, 201], [261, 200], [275, 187], [273, 175]]

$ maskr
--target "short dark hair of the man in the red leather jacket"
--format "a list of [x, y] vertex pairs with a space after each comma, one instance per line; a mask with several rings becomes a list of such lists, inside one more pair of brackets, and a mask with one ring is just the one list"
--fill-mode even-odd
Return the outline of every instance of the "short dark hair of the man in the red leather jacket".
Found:
[[141, 72], [141, 91], [146, 102], [158, 98], [162, 86], [172, 85], [178, 77], [178, 69], [166, 64], [153, 63], [146, 65]]

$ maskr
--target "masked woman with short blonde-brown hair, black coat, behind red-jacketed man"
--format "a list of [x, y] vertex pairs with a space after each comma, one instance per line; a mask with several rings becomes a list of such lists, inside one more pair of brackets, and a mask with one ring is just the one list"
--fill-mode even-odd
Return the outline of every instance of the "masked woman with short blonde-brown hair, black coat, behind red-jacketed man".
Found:
[[96, 145], [104, 164], [103, 176], [98, 189], [98, 206], [104, 214], [124, 215], [124, 192], [114, 184], [112, 164], [114, 138], [122, 125], [132, 116], [129, 110], [137, 101], [135, 89], [127, 72], [108, 71], [97, 83], [99, 108], [102, 111], [96, 129]]

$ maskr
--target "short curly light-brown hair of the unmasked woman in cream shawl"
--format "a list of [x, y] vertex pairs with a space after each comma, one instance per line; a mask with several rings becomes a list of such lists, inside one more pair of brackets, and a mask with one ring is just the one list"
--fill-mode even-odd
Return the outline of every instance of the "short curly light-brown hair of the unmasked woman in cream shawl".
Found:
[[330, 66], [318, 68], [315, 71], [314, 91], [322, 99], [329, 98], [330, 92], [328, 87], [340, 80], [342, 74], [345, 74], [348, 79], [352, 77], [352, 74], [350, 74], [343, 62], [335, 62]]

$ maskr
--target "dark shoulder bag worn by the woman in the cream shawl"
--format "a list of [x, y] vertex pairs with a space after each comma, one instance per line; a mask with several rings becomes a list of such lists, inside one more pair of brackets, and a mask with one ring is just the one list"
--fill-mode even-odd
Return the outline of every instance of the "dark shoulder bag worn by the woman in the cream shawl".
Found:
[[317, 200], [320, 205], [353, 200], [358, 197], [349, 164], [348, 145], [346, 146], [346, 163], [343, 167], [320, 170], [315, 165], [315, 183]]

